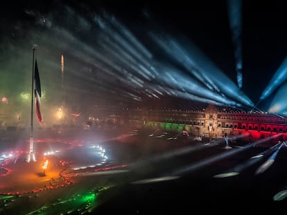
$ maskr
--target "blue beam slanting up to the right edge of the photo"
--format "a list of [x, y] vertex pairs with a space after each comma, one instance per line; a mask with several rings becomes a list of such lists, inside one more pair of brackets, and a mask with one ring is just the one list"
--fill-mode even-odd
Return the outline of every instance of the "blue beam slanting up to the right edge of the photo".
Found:
[[273, 75], [268, 86], [265, 88], [261, 94], [260, 100], [265, 100], [273, 91], [275, 91], [281, 84], [287, 80], [287, 57], [285, 57], [281, 66], [277, 69], [276, 73]]

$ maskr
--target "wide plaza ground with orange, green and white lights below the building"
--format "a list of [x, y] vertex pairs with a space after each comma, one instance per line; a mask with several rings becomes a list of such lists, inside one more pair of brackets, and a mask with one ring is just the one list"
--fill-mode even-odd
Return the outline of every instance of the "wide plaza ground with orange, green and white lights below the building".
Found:
[[[234, 207], [246, 212], [248, 207], [250, 212], [274, 214], [286, 204], [286, 196], [273, 200], [287, 183], [287, 171], [280, 168], [286, 162], [286, 146], [281, 145], [270, 169], [256, 175], [275, 149], [248, 165], [252, 156], [266, 148], [244, 149], [233, 143], [225, 149], [223, 139], [200, 142], [162, 131], [155, 135], [148, 130], [117, 133], [112, 140], [103, 138], [104, 132], [83, 133], [86, 138], [82, 141], [42, 140], [37, 144], [50, 152], [36, 162], [27, 163], [21, 156], [7, 158], [1, 166], [1, 214], [150, 214], [155, 210], [184, 212], [189, 207], [202, 212], [211, 207], [223, 213]], [[100, 145], [107, 160], [103, 162], [95, 154], [87, 159], [88, 151], [98, 148], [98, 153]], [[134, 156], [129, 157], [130, 151]], [[49, 164], [44, 172], [46, 159]], [[222, 174], [229, 169], [241, 171], [225, 178]]]

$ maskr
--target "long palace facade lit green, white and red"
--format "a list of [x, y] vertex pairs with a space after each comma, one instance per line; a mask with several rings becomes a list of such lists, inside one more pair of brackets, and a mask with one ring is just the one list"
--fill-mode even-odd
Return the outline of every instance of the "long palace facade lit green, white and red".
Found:
[[[133, 111], [130, 124], [162, 130], [187, 131], [190, 135], [214, 139], [245, 134], [244, 141], [254, 141], [276, 135], [274, 141], [286, 140], [287, 118], [272, 113], [218, 111], [209, 104], [201, 111]], [[246, 135], [247, 134], [247, 135]]]

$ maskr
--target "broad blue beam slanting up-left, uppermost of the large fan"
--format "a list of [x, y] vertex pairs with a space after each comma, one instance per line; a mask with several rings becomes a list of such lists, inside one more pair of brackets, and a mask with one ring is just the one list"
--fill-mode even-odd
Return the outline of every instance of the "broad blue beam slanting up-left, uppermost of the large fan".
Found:
[[[181, 44], [171, 37], [159, 37], [156, 34], [150, 34], [156, 44], [159, 45], [166, 53], [172, 55], [177, 62], [184, 65], [187, 71], [190, 71], [195, 77], [202, 77], [198, 75], [198, 71], [208, 75], [208, 79], [200, 80], [203, 84], [208, 82], [219, 93], [222, 92], [227, 97], [238, 100], [246, 106], [253, 107], [253, 102], [245, 95], [237, 86], [229, 80], [229, 78], [220, 71], [201, 51], [191, 42], [182, 38]], [[196, 68], [191, 70], [190, 68]]]

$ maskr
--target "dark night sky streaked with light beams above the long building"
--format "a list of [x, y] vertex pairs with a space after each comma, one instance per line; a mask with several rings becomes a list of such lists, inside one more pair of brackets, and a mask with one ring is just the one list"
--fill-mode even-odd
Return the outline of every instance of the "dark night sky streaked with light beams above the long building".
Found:
[[0, 96], [21, 104], [18, 95], [31, 92], [36, 45], [46, 104], [196, 109], [198, 102], [216, 100], [265, 111], [280, 86], [259, 98], [287, 53], [285, 6], [233, 3], [237, 13], [229, 13], [228, 1], [27, 1], [2, 7]]

